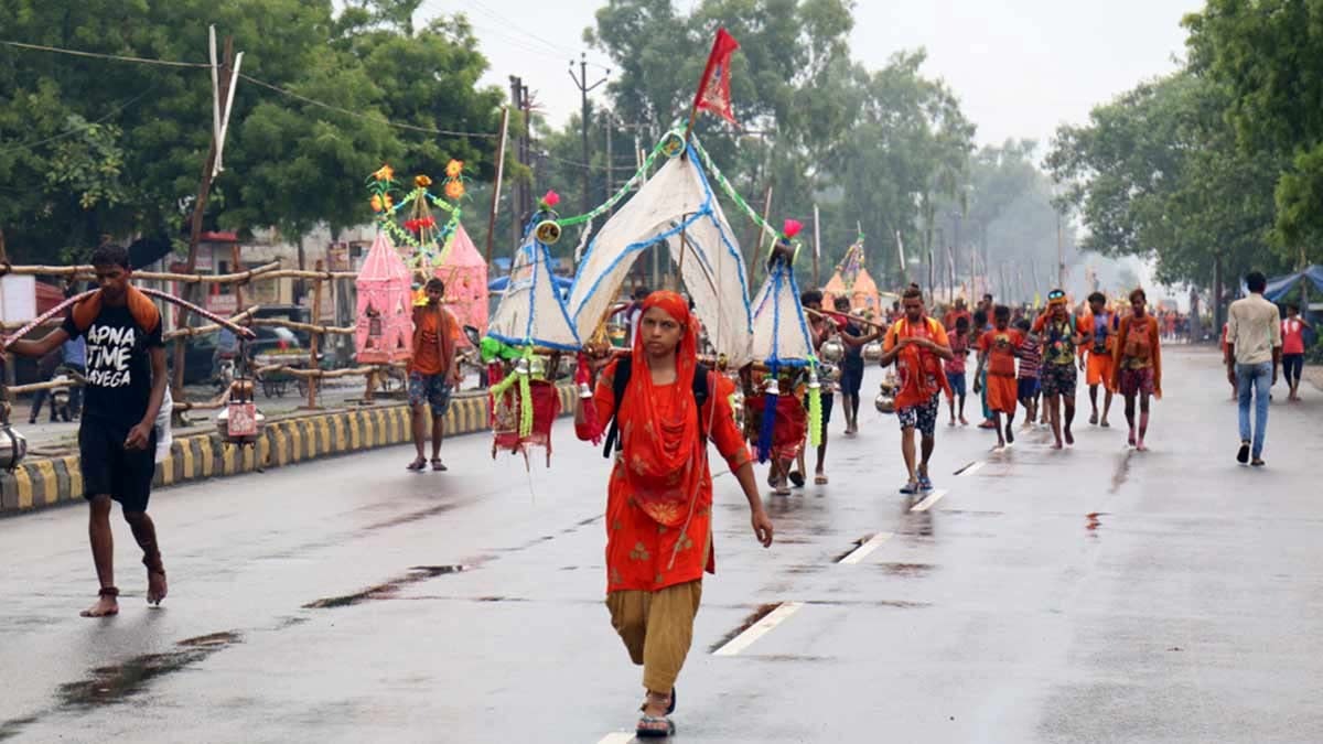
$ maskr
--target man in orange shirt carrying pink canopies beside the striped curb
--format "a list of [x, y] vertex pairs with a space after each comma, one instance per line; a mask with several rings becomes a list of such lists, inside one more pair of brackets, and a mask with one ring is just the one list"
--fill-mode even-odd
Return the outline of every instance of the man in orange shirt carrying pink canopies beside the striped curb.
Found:
[[446, 285], [439, 278], [427, 279], [427, 304], [414, 307], [414, 356], [409, 361], [409, 406], [413, 410], [414, 449], [418, 457], [409, 470], [427, 467], [423, 442], [427, 440], [427, 416], [431, 408], [431, 469], [446, 470], [441, 462], [441, 441], [446, 436], [446, 410], [450, 395], [459, 385], [455, 347], [463, 338], [459, 320], [442, 307]]

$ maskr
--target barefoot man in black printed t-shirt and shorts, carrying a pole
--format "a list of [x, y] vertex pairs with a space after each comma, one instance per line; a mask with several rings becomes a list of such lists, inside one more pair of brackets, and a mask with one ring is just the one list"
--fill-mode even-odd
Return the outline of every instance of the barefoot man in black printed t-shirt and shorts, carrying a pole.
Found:
[[152, 475], [156, 471], [156, 414], [165, 397], [165, 347], [156, 306], [130, 283], [128, 252], [98, 248], [91, 257], [99, 290], [73, 307], [64, 326], [37, 340], [17, 340], [8, 349], [42, 356], [69, 339], [87, 342], [86, 395], [78, 454], [83, 495], [91, 507], [89, 536], [99, 598], [83, 617], [119, 613], [115, 588], [111, 500], [124, 510], [124, 520], [143, 548], [147, 601], [165, 598], [165, 567], [156, 543], [156, 527], [147, 516]]

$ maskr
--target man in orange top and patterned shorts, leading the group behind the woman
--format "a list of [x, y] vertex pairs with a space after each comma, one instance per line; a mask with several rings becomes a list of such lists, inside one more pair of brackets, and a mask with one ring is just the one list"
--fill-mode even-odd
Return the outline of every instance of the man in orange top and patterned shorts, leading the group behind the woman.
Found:
[[[954, 355], [946, 328], [925, 312], [923, 293], [918, 285], [910, 285], [901, 301], [905, 315], [886, 331], [882, 367], [894, 361], [901, 381], [896, 393], [896, 417], [901, 424], [901, 454], [909, 471], [909, 481], [901, 492], [913, 495], [933, 490], [927, 462], [937, 446], [938, 401], [942, 392], [950, 389], [942, 361]], [[918, 467], [914, 466], [914, 429], [923, 437], [923, 459]]]

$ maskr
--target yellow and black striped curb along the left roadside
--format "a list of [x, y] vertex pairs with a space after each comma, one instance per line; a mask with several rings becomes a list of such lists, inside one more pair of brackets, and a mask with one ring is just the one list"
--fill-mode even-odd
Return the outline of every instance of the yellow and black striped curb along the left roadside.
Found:
[[[574, 405], [574, 388], [562, 385], [561, 412]], [[446, 436], [490, 432], [487, 395], [456, 396], [446, 412]], [[255, 446], [226, 445], [220, 434], [179, 437], [156, 466], [155, 488], [206, 478], [239, 475], [413, 441], [409, 406], [390, 405], [282, 418], [269, 422]], [[0, 516], [83, 498], [78, 455], [30, 459], [0, 475]]]

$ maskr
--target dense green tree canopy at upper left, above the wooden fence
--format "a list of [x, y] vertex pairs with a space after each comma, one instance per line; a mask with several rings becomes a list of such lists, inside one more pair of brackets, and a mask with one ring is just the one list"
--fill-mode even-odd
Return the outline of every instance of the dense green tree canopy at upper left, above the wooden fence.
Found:
[[[295, 234], [366, 221], [382, 162], [492, 172], [501, 94], [462, 17], [414, 29], [418, 0], [0, 0], [0, 229], [20, 258], [99, 236], [177, 240], [212, 131], [206, 28], [243, 52], [209, 228]], [[107, 23], [114, 19], [115, 23]], [[161, 62], [189, 62], [172, 65]], [[405, 126], [393, 126], [405, 124]], [[442, 134], [486, 132], [487, 136]]]

